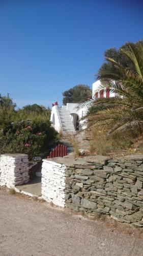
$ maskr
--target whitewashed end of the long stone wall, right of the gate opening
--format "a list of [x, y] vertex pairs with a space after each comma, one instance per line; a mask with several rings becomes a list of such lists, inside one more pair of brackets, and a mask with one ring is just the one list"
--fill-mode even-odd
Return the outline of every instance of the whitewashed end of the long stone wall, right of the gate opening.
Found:
[[65, 165], [43, 160], [42, 198], [55, 205], [65, 206]]

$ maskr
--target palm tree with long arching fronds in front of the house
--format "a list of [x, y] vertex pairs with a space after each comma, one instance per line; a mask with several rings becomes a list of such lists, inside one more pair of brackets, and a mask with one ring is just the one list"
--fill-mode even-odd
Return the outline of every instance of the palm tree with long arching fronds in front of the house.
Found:
[[121, 54], [132, 62], [133, 68], [106, 58], [113, 69], [102, 69], [98, 78], [103, 83], [102, 89], [109, 88], [117, 96], [95, 99], [85, 117], [89, 126], [104, 124], [109, 133], [143, 128], [143, 41], [129, 42], [126, 50], [121, 49]]

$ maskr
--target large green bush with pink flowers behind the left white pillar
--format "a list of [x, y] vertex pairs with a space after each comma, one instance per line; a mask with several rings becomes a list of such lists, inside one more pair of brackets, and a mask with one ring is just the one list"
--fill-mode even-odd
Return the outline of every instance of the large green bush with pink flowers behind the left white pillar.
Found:
[[0, 136], [3, 153], [23, 153], [31, 159], [44, 152], [56, 132], [44, 117], [11, 122]]

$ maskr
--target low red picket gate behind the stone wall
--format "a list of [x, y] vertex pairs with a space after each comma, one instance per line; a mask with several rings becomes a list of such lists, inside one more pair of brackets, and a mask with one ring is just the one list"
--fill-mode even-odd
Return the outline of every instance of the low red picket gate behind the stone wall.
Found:
[[47, 158], [53, 158], [53, 157], [64, 157], [68, 154], [68, 148], [65, 145], [59, 144], [54, 148], [53, 151], [50, 152], [50, 155], [47, 156]]

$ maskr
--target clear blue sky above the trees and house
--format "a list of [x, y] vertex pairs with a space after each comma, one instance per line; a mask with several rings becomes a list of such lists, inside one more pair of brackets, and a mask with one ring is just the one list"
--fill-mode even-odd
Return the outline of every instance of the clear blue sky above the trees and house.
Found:
[[133, 0], [0, 0], [0, 93], [51, 106], [92, 87], [106, 49], [143, 39], [142, 12]]

